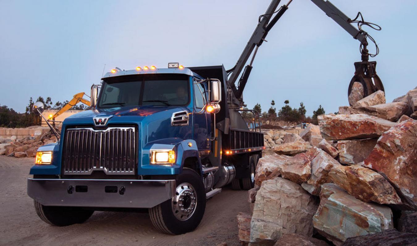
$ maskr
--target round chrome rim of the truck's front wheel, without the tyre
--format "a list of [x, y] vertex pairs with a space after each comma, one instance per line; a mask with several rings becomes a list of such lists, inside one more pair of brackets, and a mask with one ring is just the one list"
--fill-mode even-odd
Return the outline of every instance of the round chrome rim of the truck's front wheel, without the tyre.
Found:
[[193, 216], [197, 207], [197, 193], [189, 183], [177, 186], [172, 198], [172, 212], [178, 220], [185, 221]]

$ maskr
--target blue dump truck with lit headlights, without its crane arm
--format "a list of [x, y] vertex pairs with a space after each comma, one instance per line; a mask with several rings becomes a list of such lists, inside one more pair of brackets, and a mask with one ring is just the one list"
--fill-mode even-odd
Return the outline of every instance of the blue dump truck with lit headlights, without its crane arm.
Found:
[[97, 210], [148, 209], [157, 229], [182, 234], [222, 186], [254, 187], [263, 134], [222, 100], [224, 67], [170, 67], [106, 73], [100, 92], [92, 87], [91, 110], [65, 119], [58, 143], [38, 149], [28, 195], [43, 221], [67, 226]]

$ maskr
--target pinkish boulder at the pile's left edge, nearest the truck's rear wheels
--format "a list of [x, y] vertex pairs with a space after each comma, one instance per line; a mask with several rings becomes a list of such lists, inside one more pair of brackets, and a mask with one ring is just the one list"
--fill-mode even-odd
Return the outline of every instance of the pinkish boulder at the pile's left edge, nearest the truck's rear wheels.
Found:
[[281, 176], [281, 167], [288, 159], [277, 154], [265, 155], [256, 165], [255, 185], [261, 186], [262, 181]]

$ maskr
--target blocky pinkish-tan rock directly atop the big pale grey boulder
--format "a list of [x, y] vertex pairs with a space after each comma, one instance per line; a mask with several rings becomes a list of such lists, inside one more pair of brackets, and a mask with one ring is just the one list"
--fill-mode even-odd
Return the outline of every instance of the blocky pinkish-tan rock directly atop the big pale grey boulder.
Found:
[[310, 179], [311, 166], [310, 160], [306, 154], [297, 154], [288, 158], [288, 161], [281, 166], [281, 176], [289, 179], [294, 183], [301, 184]]

